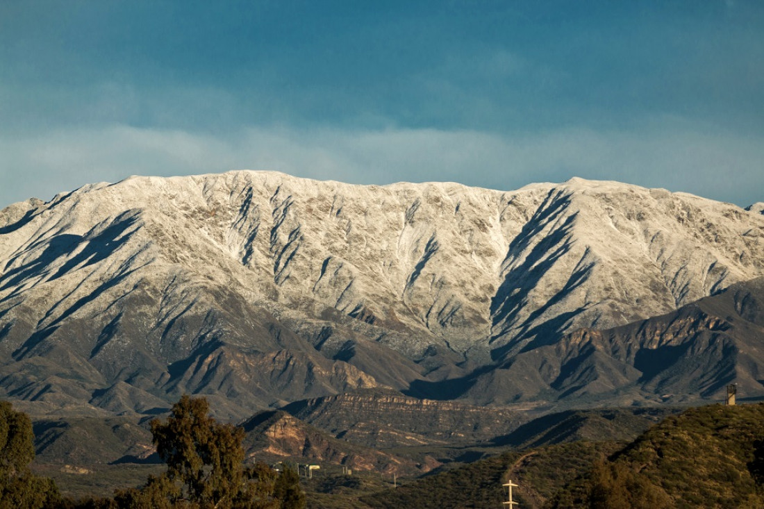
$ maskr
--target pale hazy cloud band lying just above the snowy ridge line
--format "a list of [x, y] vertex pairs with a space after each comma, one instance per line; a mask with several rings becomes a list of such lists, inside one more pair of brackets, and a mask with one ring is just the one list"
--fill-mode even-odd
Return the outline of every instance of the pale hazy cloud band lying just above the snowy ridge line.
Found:
[[578, 176], [741, 206], [764, 200], [764, 140], [687, 127], [667, 122], [643, 131], [566, 128], [516, 136], [437, 129], [245, 128], [225, 136], [124, 125], [57, 130], [0, 138], [0, 206], [131, 174], [232, 169], [350, 183], [448, 180], [500, 190]]

